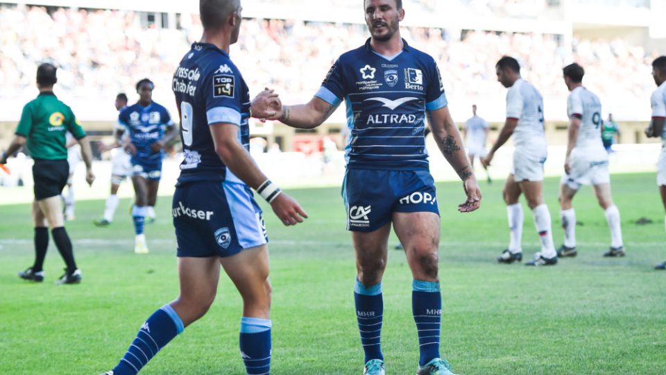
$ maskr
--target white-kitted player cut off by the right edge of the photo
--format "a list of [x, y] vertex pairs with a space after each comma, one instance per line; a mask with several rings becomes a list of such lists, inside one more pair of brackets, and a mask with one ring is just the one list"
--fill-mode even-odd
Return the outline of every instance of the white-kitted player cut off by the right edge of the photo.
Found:
[[[660, 56], [652, 62], [652, 76], [657, 90], [652, 93], [652, 121], [645, 129], [645, 135], [649, 138], [661, 137], [661, 153], [657, 165], [657, 185], [661, 193], [661, 201], [666, 210], [666, 56]], [[666, 262], [658, 264], [656, 269], [666, 269]]]

